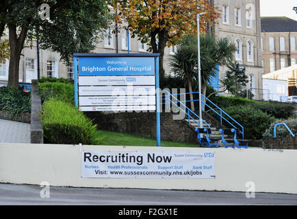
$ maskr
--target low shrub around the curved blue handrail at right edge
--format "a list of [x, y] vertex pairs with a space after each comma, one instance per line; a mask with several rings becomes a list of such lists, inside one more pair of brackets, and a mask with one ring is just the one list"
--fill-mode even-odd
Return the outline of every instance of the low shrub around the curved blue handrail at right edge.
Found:
[[[297, 119], [293, 120], [276, 120], [274, 123], [270, 125], [270, 127], [263, 133], [263, 137], [274, 137], [274, 125], [277, 123], [285, 123], [287, 127], [294, 133], [294, 135], [297, 135]], [[287, 137], [291, 136], [285, 125], [278, 125], [276, 127], [276, 137]]]

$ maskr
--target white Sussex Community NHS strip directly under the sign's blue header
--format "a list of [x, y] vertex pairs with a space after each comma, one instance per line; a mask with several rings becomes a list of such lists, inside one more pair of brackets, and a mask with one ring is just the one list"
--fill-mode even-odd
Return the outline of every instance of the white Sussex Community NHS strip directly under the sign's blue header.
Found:
[[134, 86], [153, 85], [155, 86], [155, 76], [81, 76], [79, 86]]

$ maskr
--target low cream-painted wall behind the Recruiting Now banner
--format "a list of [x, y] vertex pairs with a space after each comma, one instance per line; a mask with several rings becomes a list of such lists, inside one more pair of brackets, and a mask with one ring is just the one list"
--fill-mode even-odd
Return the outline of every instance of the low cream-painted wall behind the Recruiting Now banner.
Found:
[[77, 145], [0, 144], [0, 182], [85, 188], [148, 188], [297, 194], [297, 150], [204, 149], [146, 146], [82, 146], [94, 151], [191, 151], [216, 153], [215, 179], [90, 179], [81, 178]]

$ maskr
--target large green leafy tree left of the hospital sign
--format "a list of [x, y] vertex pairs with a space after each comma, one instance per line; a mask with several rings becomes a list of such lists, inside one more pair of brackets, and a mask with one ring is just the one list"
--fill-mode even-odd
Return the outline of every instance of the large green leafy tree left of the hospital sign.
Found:
[[97, 35], [108, 25], [109, 12], [103, 0], [47, 1], [49, 20], [38, 13], [41, 0], [1, 1], [0, 36], [9, 29], [9, 86], [18, 85], [18, 68], [25, 40], [38, 38], [42, 49], [60, 53], [69, 62], [73, 53], [94, 49]]

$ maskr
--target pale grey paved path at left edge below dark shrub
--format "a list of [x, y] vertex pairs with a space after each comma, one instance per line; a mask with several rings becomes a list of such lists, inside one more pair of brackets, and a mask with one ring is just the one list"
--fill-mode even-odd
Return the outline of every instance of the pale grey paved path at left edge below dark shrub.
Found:
[[0, 119], [0, 143], [31, 143], [30, 124]]

